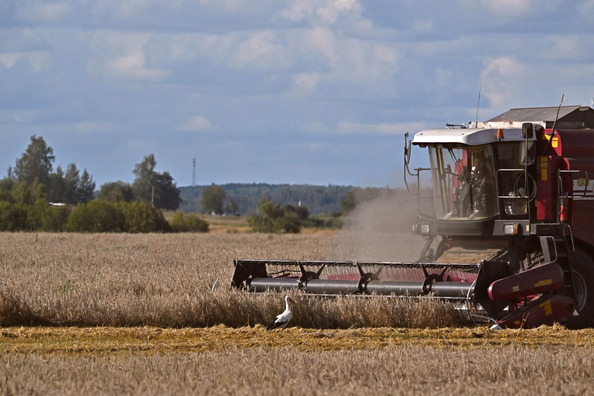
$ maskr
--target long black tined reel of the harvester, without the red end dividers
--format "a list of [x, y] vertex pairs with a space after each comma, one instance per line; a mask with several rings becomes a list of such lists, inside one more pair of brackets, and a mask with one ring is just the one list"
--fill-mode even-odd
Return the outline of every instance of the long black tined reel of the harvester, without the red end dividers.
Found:
[[[466, 299], [479, 264], [235, 259], [232, 286], [248, 292]], [[415, 273], [416, 270], [416, 273]], [[473, 274], [474, 272], [474, 274]], [[420, 278], [419, 279], [419, 273]]]

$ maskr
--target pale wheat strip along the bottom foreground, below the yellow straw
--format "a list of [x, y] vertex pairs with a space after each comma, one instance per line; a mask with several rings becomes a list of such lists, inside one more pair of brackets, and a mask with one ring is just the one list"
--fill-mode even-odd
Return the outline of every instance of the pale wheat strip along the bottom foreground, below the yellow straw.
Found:
[[551, 347], [380, 351], [4, 354], [2, 394], [588, 395], [594, 350]]

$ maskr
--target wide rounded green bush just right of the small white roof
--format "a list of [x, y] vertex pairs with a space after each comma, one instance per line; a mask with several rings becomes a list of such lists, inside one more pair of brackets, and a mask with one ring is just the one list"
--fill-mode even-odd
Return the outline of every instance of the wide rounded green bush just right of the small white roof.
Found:
[[78, 204], [69, 214], [64, 229], [69, 232], [121, 232], [125, 230], [122, 211], [105, 201]]

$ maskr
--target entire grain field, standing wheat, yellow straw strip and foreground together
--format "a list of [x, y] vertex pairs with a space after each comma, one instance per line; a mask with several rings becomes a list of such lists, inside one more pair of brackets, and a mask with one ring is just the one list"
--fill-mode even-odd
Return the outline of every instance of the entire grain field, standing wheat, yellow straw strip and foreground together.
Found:
[[295, 295], [292, 327], [267, 332], [282, 297], [228, 290], [233, 258], [389, 254], [356, 245], [332, 233], [0, 234], [0, 392], [591, 392], [592, 330], [494, 332], [429, 300]]

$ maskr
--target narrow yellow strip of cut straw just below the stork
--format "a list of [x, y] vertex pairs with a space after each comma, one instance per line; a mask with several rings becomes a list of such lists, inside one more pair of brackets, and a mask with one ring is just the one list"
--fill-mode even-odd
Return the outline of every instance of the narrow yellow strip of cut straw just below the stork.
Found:
[[0, 332], [0, 351], [11, 353], [97, 354], [113, 351], [204, 352], [265, 347], [302, 351], [385, 350], [391, 347], [440, 347], [452, 350], [493, 347], [594, 346], [594, 329], [563, 326], [492, 331], [485, 327], [315, 330], [290, 327], [269, 332], [263, 326], [229, 328], [156, 327], [8, 327]]

